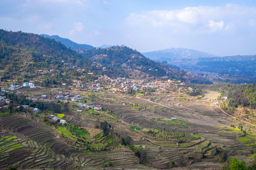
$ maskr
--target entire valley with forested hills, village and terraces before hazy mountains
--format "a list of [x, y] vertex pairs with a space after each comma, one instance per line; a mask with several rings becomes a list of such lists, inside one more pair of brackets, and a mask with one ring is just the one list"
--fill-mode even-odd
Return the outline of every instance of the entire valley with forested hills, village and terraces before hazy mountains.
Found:
[[0, 169], [256, 164], [253, 84], [209, 80], [124, 45], [60, 39], [72, 50], [4, 30], [0, 40]]

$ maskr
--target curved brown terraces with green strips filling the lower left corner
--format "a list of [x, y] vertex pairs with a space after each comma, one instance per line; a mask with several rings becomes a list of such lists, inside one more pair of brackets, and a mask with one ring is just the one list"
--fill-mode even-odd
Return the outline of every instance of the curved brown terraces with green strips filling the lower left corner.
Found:
[[50, 127], [18, 115], [0, 117], [0, 169], [130, 166], [138, 164], [131, 150], [119, 147], [107, 152], [83, 152], [67, 144]]

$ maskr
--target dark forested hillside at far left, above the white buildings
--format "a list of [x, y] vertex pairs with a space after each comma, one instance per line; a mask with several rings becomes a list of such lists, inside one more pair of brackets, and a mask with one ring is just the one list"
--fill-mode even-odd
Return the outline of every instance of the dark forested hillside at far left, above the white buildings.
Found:
[[[54, 39], [20, 31], [0, 30], [2, 80], [27, 81], [40, 78], [45, 82], [61, 84], [68, 77], [71, 78], [72, 71], [76, 71], [72, 66], [83, 66], [86, 71], [91, 64], [76, 51]], [[40, 70], [45, 74], [39, 73]]]

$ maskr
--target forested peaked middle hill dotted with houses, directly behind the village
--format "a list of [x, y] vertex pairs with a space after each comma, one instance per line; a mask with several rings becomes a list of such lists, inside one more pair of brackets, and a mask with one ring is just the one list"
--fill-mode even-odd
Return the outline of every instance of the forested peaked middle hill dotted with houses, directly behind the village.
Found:
[[208, 80], [193, 77], [176, 66], [166, 66], [150, 60], [140, 52], [124, 45], [84, 50], [82, 55], [93, 64], [100, 64], [112, 76], [146, 79], [175, 78], [193, 83], [211, 83]]

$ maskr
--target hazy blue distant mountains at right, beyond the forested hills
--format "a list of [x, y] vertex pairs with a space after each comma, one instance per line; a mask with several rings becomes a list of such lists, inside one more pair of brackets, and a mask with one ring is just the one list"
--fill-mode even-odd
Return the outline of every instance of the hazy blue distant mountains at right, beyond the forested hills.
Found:
[[218, 80], [234, 83], [256, 82], [256, 55], [218, 57], [186, 48], [170, 48], [146, 52], [143, 55], [149, 59], [167, 65], [173, 64], [194, 73], [218, 73]]

